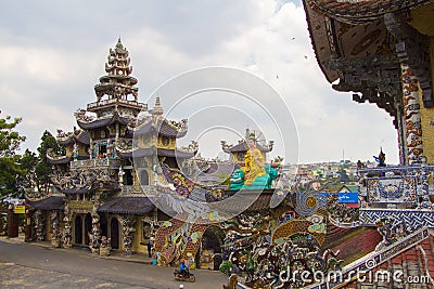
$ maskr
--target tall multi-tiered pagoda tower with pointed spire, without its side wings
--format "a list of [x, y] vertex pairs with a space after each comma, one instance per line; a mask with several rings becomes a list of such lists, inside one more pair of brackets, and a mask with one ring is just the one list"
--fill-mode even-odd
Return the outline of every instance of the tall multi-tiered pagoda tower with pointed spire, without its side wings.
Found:
[[136, 223], [141, 224], [133, 215], [152, 219], [155, 209], [137, 187], [131, 157], [123, 154], [132, 147], [137, 118], [148, 106], [138, 102], [138, 81], [120, 39], [110, 49], [105, 71], [94, 86], [97, 102], [75, 113], [79, 129], [58, 130], [65, 155], [48, 156], [56, 168], [51, 181], [64, 203], [63, 227], [58, 227], [62, 236], [56, 239], [65, 248], [89, 246], [98, 253], [104, 236], [113, 249], [130, 253], [135, 237], [120, 232], [133, 232]]

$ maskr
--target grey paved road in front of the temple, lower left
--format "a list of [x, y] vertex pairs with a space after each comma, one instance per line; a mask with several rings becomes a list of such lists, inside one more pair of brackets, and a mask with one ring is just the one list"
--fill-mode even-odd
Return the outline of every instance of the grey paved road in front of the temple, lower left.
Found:
[[0, 238], [0, 288], [222, 288], [219, 272], [193, 271], [195, 283], [174, 279], [170, 267], [131, 259], [92, 257], [79, 249], [51, 249]]

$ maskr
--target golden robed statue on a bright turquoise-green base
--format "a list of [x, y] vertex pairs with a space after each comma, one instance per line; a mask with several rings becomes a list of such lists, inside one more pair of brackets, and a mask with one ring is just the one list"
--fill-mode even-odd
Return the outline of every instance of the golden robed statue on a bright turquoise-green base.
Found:
[[247, 147], [245, 166], [233, 171], [230, 178], [230, 189], [271, 188], [272, 180], [278, 178], [279, 172], [269, 165], [265, 165], [263, 153], [256, 147], [254, 134], [248, 136]]

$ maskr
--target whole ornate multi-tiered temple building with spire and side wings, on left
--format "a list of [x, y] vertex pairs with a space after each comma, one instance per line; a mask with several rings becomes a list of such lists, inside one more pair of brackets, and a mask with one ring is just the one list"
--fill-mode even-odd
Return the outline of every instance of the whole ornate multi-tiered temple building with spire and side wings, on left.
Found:
[[138, 81], [120, 39], [110, 50], [105, 71], [94, 86], [97, 102], [75, 114], [78, 128], [58, 130], [63, 154], [48, 152], [54, 193], [27, 193], [28, 219], [36, 227], [28, 238], [89, 247], [94, 253], [107, 247], [126, 254], [148, 252], [158, 222], [170, 219], [148, 196], [158, 194], [157, 179], [171, 178], [177, 160], [193, 157], [197, 144], [177, 148], [187, 120], [165, 119], [159, 97], [152, 109], [138, 102]]

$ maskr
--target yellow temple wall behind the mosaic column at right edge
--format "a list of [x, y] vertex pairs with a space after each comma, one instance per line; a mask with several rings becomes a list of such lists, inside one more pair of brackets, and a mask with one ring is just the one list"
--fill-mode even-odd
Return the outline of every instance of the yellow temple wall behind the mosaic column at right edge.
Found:
[[[434, 83], [434, 38], [430, 38], [430, 54], [431, 54], [431, 77]], [[421, 107], [421, 126], [422, 126], [422, 142], [423, 153], [427, 159], [427, 163], [434, 163], [434, 126], [431, 121], [434, 120], [434, 107], [425, 108], [422, 103], [421, 90], [419, 90], [419, 100]]]

